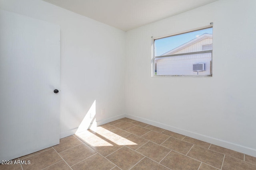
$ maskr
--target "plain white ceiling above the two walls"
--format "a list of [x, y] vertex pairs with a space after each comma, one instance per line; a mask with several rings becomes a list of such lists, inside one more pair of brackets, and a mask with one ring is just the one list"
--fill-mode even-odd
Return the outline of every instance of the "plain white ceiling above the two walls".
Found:
[[44, 0], [128, 31], [217, 0]]

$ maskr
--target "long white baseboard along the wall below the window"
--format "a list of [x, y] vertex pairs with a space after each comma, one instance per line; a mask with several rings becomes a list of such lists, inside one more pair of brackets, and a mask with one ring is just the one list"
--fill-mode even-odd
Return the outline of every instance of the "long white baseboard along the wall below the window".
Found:
[[195, 132], [192, 132], [192, 131], [179, 129], [179, 128], [176, 128], [176, 127], [173, 127], [173, 126], [170, 126], [170, 125], [166, 125], [166, 124], [159, 123], [159, 122], [156, 122], [156, 121], [144, 119], [144, 118], [141, 118], [141, 117], [136, 117], [136, 116], [132, 116], [132, 115], [128, 115], [128, 114], [126, 114], [125, 117], [130, 118], [130, 119], [134, 119], [136, 121], [141, 121], [143, 123], [147, 123], [147, 124], [150, 124], [150, 125], [153, 125], [153, 126], [156, 126], [156, 127], [160, 127], [162, 129], [166, 129], [168, 131], [179, 133], [179, 134], [182, 134], [182, 135], [185, 135], [185, 136], [188, 136], [188, 137], [192, 137], [192, 138], [204, 141], [204, 142], [208, 142], [208, 143], [211, 143], [211, 144], [214, 144], [214, 145], [218, 145], [220, 147], [235, 150], [237, 152], [241, 152], [241, 153], [248, 154], [250, 156], [256, 157], [256, 149], [253, 149], [253, 148], [238, 145], [236, 143], [230, 143], [228, 141], [223, 141], [221, 139], [216, 139], [214, 137], [209, 137], [209, 136], [202, 135], [202, 134], [199, 134], [199, 133], [195, 133]]

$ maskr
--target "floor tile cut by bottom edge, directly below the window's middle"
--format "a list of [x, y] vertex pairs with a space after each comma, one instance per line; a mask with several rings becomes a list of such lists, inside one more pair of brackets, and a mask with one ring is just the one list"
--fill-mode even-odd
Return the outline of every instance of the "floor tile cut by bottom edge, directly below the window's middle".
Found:
[[178, 152], [171, 151], [160, 164], [172, 170], [198, 170], [201, 162]]

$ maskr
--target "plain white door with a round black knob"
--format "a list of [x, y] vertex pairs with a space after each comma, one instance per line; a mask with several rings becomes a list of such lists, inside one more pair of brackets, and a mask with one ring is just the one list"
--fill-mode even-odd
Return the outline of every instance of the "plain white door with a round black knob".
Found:
[[60, 26], [0, 10], [0, 160], [59, 143]]

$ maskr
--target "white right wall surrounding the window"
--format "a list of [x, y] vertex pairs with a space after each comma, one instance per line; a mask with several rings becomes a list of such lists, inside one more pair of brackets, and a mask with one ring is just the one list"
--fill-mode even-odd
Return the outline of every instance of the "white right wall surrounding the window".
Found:
[[[256, 1], [219, 0], [126, 33], [127, 117], [256, 156]], [[151, 77], [151, 37], [213, 22], [212, 77]]]

